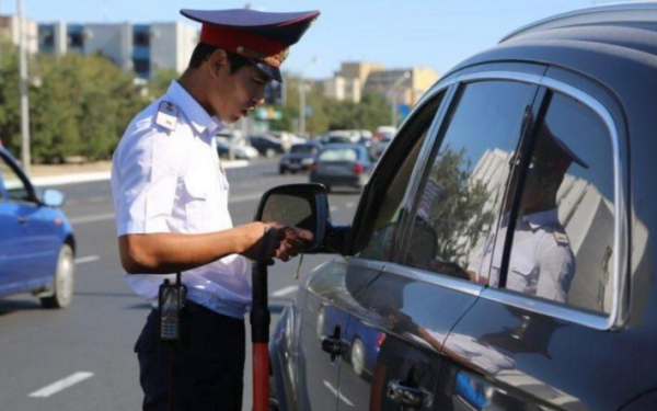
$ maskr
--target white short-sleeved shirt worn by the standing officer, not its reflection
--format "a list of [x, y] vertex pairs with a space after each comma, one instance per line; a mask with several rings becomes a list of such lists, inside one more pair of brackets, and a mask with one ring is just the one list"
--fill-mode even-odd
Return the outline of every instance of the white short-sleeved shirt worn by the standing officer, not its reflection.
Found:
[[[157, 122], [161, 102], [177, 109], [173, 129]], [[228, 180], [214, 139], [222, 127], [183, 87], [169, 91], [139, 113], [114, 152], [112, 193], [118, 236], [206, 233], [232, 228]], [[216, 312], [243, 318], [251, 304], [249, 260], [229, 255], [183, 273], [189, 300]], [[175, 275], [126, 274], [136, 294], [151, 305], [164, 278]]]

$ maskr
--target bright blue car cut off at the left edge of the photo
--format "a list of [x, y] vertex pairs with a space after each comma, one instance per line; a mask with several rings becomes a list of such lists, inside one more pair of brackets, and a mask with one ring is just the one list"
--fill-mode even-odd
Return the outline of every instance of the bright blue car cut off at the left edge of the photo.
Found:
[[64, 199], [32, 185], [0, 146], [0, 296], [32, 293], [45, 308], [71, 304], [76, 240]]

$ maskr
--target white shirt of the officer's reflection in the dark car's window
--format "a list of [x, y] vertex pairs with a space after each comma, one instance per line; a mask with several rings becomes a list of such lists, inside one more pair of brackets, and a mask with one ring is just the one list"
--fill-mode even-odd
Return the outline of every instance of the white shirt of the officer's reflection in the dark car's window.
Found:
[[[506, 224], [495, 246], [491, 235], [473, 255], [468, 270], [497, 286], [506, 238]], [[489, 267], [489, 269], [488, 269]], [[575, 256], [556, 208], [522, 216], [516, 224], [507, 274], [508, 289], [566, 302], [575, 276]]]

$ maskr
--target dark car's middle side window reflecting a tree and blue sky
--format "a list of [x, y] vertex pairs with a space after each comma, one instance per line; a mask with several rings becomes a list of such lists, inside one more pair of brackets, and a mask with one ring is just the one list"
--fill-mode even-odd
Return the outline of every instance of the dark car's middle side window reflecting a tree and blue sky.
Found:
[[535, 88], [464, 87], [420, 192], [402, 263], [476, 279], [479, 253], [500, 213], [509, 158]]

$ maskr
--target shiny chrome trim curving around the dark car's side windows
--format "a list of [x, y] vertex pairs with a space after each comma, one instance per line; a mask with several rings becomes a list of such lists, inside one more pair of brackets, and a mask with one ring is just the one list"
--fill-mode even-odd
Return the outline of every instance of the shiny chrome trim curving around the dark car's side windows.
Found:
[[[387, 272], [400, 274], [410, 278], [415, 278], [430, 284], [437, 284], [443, 287], [449, 287], [459, 292], [466, 292], [473, 295], [481, 295], [482, 298], [508, 304], [510, 306], [528, 309], [531, 311], [544, 313], [554, 318], [560, 318], [566, 321], [575, 322], [581, 326], [590, 327], [597, 330], [611, 330], [622, 326], [622, 319], [620, 319], [620, 307], [622, 301], [622, 293], [624, 284], [621, 283], [623, 275], [623, 259], [625, 258], [626, 250], [623, 242], [624, 230], [624, 196], [623, 196], [623, 172], [621, 162], [620, 151], [620, 139], [615, 122], [611, 113], [602, 105], [599, 101], [585, 93], [584, 91], [554, 80], [544, 76], [530, 75], [526, 72], [514, 72], [514, 71], [481, 71], [470, 72], [466, 75], [456, 75], [454, 77], [447, 79], [445, 82], [438, 82], [429, 92], [431, 95], [440, 90], [448, 88], [454, 83], [468, 83], [473, 81], [488, 81], [488, 80], [510, 80], [520, 81], [537, 85], [549, 88], [553, 91], [557, 91], [569, 98], [573, 98], [590, 110], [592, 110], [602, 119], [609, 135], [612, 145], [613, 155], [613, 173], [614, 173], [614, 277], [613, 277], [613, 302], [612, 308], [607, 315], [596, 315], [587, 312], [576, 307], [566, 307], [555, 305], [546, 300], [541, 300], [528, 295], [518, 295], [515, 292], [485, 288], [482, 293], [482, 286], [472, 284], [472, 287], [466, 287], [466, 283], [446, 277], [439, 274], [427, 274], [425, 272], [414, 270], [406, 266], [400, 266], [397, 264], [388, 264]], [[428, 94], [428, 93], [427, 93]], [[479, 289], [475, 292], [475, 289]]]

